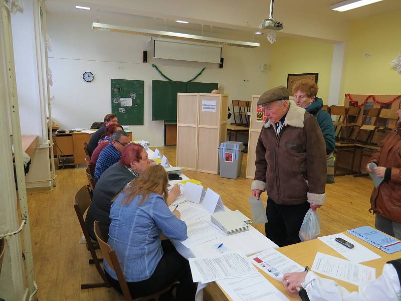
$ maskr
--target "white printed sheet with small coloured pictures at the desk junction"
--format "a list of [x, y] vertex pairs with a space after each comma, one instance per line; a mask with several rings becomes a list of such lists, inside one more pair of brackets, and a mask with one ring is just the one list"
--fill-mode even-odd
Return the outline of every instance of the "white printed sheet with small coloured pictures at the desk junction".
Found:
[[285, 273], [302, 272], [304, 267], [275, 249], [269, 249], [250, 257], [257, 265], [274, 279], [281, 281]]

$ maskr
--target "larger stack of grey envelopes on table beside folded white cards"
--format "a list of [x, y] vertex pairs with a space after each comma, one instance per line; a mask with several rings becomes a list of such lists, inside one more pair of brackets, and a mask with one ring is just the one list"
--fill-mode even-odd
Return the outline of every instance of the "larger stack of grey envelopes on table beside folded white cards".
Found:
[[212, 223], [217, 225], [227, 235], [248, 230], [248, 225], [243, 222], [238, 213], [233, 211], [218, 212], [210, 216]]

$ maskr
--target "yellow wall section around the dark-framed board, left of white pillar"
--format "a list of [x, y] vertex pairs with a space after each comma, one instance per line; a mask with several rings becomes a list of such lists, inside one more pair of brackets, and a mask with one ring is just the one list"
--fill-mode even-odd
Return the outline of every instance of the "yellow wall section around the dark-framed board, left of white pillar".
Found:
[[[269, 88], [287, 85], [287, 74], [319, 73], [318, 97], [327, 103], [333, 44], [310, 39], [277, 37], [270, 46]], [[290, 91], [290, 95], [291, 95]]]

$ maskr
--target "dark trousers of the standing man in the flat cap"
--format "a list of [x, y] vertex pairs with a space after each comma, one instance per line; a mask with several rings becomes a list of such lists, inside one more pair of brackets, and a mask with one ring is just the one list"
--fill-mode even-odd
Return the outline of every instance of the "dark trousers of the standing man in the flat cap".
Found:
[[266, 237], [279, 247], [301, 242], [299, 229], [309, 208], [308, 202], [299, 205], [278, 205], [271, 198], [267, 198]]

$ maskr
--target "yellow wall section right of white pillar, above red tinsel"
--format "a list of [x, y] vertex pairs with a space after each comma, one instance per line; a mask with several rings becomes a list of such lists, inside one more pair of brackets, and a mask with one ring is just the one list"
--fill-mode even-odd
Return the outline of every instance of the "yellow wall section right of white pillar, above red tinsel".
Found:
[[[401, 94], [401, 75], [390, 65], [401, 51], [401, 11], [355, 21], [345, 43], [343, 94]], [[371, 56], [365, 58], [365, 53]], [[344, 101], [340, 97], [340, 103]]]

